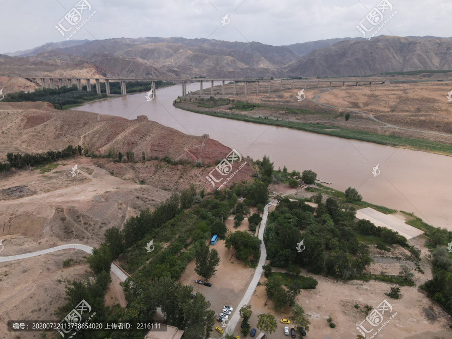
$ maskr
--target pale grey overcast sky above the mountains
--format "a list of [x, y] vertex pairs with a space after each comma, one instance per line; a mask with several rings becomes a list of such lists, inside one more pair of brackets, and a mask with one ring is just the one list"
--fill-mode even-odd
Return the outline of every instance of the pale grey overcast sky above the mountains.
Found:
[[[279, 46], [321, 39], [362, 37], [363, 34], [356, 26], [381, 0], [86, 1], [91, 5], [91, 10], [82, 13], [82, 20], [90, 13], [96, 13], [74, 34], [72, 40], [184, 37], [259, 41]], [[79, 0], [2, 2], [0, 53], [63, 41], [55, 26], [78, 2]], [[452, 36], [451, 0], [389, 2], [393, 9], [390, 13], [389, 10], [386, 11], [383, 19], [386, 20], [395, 11], [397, 14], [377, 35]], [[222, 26], [221, 18], [228, 13], [230, 22]], [[367, 28], [371, 26], [367, 21], [363, 25]]]

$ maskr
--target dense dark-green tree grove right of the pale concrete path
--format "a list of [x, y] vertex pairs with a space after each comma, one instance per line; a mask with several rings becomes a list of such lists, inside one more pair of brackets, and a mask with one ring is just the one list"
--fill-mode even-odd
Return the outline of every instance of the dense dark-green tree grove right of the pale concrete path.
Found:
[[[333, 198], [319, 203], [317, 215], [302, 201], [283, 198], [269, 215], [264, 241], [273, 266], [298, 264], [313, 272], [342, 275], [361, 274], [372, 259], [355, 233], [355, 210], [342, 210]], [[303, 235], [300, 230], [305, 230]], [[304, 240], [305, 249], [295, 251]]]

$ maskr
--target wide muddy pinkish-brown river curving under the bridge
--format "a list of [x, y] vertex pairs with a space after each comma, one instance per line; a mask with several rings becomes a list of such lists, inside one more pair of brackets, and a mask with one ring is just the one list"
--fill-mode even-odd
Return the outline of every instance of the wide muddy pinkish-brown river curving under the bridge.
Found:
[[[187, 84], [188, 91], [198, 89], [199, 83]], [[186, 134], [208, 134], [255, 160], [269, 156], [275, 169], [313, 170], [332, 188], [355, 187], [365, 201], [414, 212], [435, 227], [452, 230], [452, 157], [196, 114], [172, 105], [181, 94], [181, 85], [175, 85], [158, 89], [152, 101], [136, 93], [73, 109], [127, 119], [146, 115]], [[377, 164], [381, 172], [374, 177]]]

